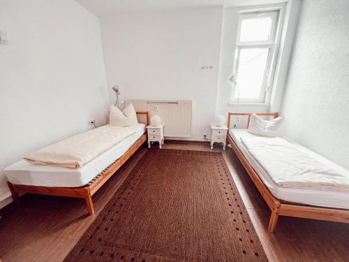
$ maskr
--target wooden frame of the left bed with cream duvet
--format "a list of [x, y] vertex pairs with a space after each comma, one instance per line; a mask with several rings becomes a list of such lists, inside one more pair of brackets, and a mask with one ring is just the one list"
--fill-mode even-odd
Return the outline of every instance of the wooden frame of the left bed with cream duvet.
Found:
[[[137, 112], [137, 115], [145, 115], [146, 124], [149, 125], [149, 112]], [[114, 173], [140, 148], [143, 143], [147, 141], [147, 133], [144, 133], [138, 140], [123, 154], [119, 159], [114, 161], [112, 165], [108, 166], [100, 175], [96, 174], [96, 177], [91, 180], [89, 184], [83, 187], [36, 187], [27, 186], [24, 184], [12, 184], [7, 182], [11, 191], [13, 200], [18, 203], [20, 201], [20, 194], [42, 194], [51, 196], [68, 196], [72, 198], [84, 198], [86, 200], [87, 209], [89, 214], [94, 214], [94, 203], [92, 202], [92, 196], [96, 194], [107, 180], [114, 175]]]

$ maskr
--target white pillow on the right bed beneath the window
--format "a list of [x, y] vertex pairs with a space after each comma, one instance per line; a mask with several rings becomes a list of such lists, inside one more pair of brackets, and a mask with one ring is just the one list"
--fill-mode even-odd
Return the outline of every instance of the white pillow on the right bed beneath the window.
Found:
[[268, 121], [252, 114], [250, 124], [248, 125], [248, 133], [258, 136], [282, 137], [283, 123], [283, 117], [277, 117]]

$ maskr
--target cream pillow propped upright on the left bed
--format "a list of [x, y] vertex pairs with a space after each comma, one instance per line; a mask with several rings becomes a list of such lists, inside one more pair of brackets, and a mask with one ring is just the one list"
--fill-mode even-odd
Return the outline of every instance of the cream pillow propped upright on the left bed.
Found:
[[116, 106], [110, 105], [109, 122], [112, 126], [121, 127], [138, 124], [137, 114], [135, 113], [135, 108], [133, 108], [132, 103], [127, 105], [122, 112]]

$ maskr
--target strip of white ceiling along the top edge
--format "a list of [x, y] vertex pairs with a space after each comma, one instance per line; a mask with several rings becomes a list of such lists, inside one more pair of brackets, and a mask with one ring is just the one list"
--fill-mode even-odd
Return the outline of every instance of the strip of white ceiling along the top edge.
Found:
[[98, 17], [115, 13], [207, 8], [214, 6], [253, 6], [287, 0], [75, 0]]

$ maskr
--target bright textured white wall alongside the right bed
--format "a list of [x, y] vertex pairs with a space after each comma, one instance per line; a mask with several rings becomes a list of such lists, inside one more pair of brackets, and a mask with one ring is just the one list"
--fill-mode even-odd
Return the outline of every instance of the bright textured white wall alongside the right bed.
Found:
[[348, 14], [348, 0], [304, 0], [282, 115], [287, 136], [349, 170]]

